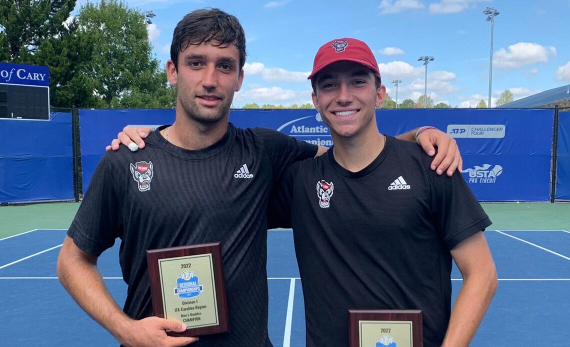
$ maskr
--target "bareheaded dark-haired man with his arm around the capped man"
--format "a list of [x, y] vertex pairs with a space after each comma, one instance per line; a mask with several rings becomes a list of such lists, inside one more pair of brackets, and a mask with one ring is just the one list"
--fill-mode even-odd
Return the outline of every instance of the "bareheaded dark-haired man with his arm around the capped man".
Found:
[[[145, 251], [221, 241], [230, 332], [202, 336], [196, 345], [271, 346], [267, 203], [287, 166], [314, 157], [317, 147], [275, 130], [229, 123], [246, 55], [237, 18], [218, 9], [186, 15], [174, 30], [171, 55], [166, 74], [178, 87], [176, 121], [150, 134], [144, 150], [105, 154], [68, 230], [58, 275], [78, 304], [121, 344], [182, 346], [197, 339], [169, 337], [167, 329], [181, 332], [184, 325], [152, 317]], [[451, 149], [434, 165], [457, 168], [455, 142], [441, 132], [431, 131], [424, 140], [430, 137]], [[250, 176], [235, 177], [242, 167]], [[97, 269], [97, 258], [117, 238], [128, 284], [124, 312]]]

